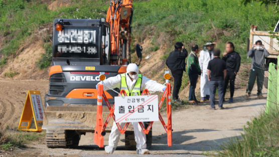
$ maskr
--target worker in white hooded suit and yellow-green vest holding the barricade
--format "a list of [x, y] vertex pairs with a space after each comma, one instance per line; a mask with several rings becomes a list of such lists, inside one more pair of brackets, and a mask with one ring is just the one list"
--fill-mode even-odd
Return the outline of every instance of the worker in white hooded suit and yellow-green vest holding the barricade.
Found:
[[[124, 78], [125, 80], [123, 81]], [[128, 96], [140, 95], [140, 92], [144, 91], [145, 89], [148, 89], [151, 92], [164, 92], [166, 90], [166, 86], [159, 84], [156, 81], [150, 80], [149, 78], [142, 76], [142, 74], [138, 74], [138, 67], [134, 63], [130, 63], [127, 66], [126, 73], [107, 78], [103, 81], [103, 85], [104, 91], [109, 90], [109, 88], [118, 88], [120, 90], [125, 90], [126, 93], [128, 92]], [[121, 123], [121, 127], [123, 127], [124, 124], [125, 123]], [[147, 149], [146, 144], [146, 134], [138, 122], [133, 122], [132, 125], [134, 129], [134, 139], [136, 142], [136, 153], [148, 154], [149, 150]], [[113, 126], [109, 134], [108, 145], [105, 146], [106, 153], [113, 153], [113, 151], [116, 149], [119, 138], [120, 132], [115, 122], [113, 122]]]

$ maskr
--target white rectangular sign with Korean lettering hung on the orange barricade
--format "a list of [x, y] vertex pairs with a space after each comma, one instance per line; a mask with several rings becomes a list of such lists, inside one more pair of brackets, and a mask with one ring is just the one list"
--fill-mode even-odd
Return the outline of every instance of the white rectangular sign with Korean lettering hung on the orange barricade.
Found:
[[159, 121], [158, 95], [114, 97], [115, 122]]

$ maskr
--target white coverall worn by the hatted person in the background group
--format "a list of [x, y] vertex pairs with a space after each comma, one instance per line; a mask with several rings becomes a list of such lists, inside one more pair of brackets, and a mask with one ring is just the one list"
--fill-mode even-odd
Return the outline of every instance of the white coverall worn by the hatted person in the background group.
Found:
[[[211, 57], [210, 57], [211, 53]], [[210, 52], [208, 50], [202, 50], [200, 52], [200, 57], [199, 57], [199, 64], [202, 70], [201, 73], [201, 97], [206, 97], [206, 95], [210, 95], [209, 93], [209, 81], [207, 77], [207, 66], [208, 63], [211, 59], [214, 58], [213, 51], [211, 50]]]

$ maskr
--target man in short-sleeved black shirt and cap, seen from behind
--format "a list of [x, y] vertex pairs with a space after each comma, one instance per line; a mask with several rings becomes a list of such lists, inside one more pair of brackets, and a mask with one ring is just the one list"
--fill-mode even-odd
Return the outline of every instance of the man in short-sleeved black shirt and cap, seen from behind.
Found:
[[214, 58], [209, 61], [207, 66], [208, 81], [210, 86], [210, 107], [208, 109], [215, 110], [215, 93], [218, 88], [219, 109], [223, 108], [224, 86], [226, 77], [226, 62], [220, 57], [220, 50], [214, 50]]

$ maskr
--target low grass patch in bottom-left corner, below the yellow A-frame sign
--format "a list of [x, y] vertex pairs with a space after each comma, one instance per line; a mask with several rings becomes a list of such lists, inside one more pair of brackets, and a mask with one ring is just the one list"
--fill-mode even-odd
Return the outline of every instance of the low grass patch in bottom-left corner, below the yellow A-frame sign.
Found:
[[16, 129], [9, 129], [0, 132], [0, 148], [12, 150], [14, 147], [27, 147], [26, 144], [41, 139], [45, 132], [23, 132]]

